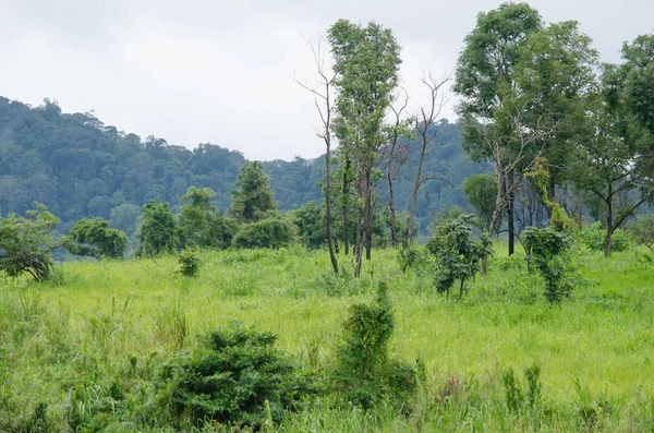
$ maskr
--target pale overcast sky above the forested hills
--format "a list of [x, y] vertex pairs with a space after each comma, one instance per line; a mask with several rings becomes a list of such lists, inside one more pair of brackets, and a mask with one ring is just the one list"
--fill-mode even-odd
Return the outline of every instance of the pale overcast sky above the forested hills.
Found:
[[[603, 61], [654, 32], [652, 0], [533, 0], [545, 22], [577, 20]], [[0, 0], [0, 96], [189, 148], [218, 144], [249, 159], [317, 157], [306, 40], [339, 19], [376, 21], [402, 46], [408, 112], [421, 76], [451, 73], [463, 38], [492, 0]], [[328, 56], [328, 53], [327, 53]], [[441, 118], [456, 119], [447, 92]]]

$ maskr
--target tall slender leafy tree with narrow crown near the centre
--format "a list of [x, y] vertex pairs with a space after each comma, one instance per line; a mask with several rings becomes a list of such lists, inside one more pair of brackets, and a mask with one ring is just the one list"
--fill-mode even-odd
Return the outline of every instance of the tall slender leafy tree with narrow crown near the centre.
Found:
[[374, 22], [366, 27], [339, 20], [327, 32], [334, 55], [336, 111], [341, 146], [349, 147], [356, 173], [360, 207], [354, 274], [361, 273], [365, 245], [372, 250], [373, 183], [385, 142], [384, 118], [392, 101], [401, 63], [392, 32]]

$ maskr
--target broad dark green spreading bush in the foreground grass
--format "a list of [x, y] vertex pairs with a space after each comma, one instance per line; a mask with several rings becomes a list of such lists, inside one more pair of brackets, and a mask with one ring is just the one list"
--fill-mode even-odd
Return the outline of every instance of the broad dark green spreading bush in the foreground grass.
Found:
[[274, 348], [269, 333], [234, 326], [202, 337], [155, 374], [160, 407], [186, 425], [215, 422], [255, 429], [279, 423], [314, 393], [311, 377]]

